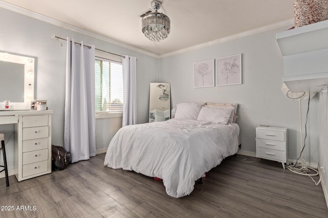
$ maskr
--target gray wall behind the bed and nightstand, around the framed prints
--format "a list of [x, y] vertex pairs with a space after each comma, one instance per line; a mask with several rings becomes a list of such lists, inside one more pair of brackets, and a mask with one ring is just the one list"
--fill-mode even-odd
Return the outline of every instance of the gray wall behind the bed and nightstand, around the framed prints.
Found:
[[[160, 60], [160, 80], [171, 83], [172, 105], [181, 102], [238, 103], [241, 153], [256, 152], [255, 128], [270, 125], [288, 128], [288, 158], [300, 153], [299, 103], [281, 92], [283, 63], [276, 33], [285, 28], [258, 33]], [[242, 54], [242, 84], [194, 88], [194, 62]], [[305, 118], [307, 102], [302, 102]], [[311, 99], [306, 161], [318, 163], [318, 99]], [[305, 119], [303, 120], [305, 123]], [[304, 130], [304, 128], [303, 128]], [[304, 135], [303, 135], [304, 136]]]

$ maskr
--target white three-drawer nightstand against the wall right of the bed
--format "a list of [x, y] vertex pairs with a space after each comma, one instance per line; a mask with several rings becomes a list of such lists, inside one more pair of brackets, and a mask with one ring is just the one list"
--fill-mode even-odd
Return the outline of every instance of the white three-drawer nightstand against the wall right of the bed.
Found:
[[287, 128], [256, 128], [256, 156], [284, 163], [287, 160]]

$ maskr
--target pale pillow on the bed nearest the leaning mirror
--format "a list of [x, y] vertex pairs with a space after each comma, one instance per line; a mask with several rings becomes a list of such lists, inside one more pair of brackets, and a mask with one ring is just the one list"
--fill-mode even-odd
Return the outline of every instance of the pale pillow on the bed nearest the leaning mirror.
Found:
[[196, 103], [179, 103], [176, 105], [175, 119], [197, 119], [201, 105]]

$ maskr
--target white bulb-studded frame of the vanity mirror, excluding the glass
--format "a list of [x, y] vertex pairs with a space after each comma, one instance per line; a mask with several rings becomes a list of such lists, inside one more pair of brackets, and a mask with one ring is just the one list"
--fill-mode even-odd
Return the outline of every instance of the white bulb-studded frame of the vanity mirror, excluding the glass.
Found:
[[[5, 109], [4, 103], [0, 110], [28, 110], [30, 102], [34, 99], [34, 74], [35, 74], [35, 59], [32, 57], [0, 52], [0, 61], [24, 64], [24, 102], [10, 102], [13, 108]], [[10, 101], [10, 99], [9, 99]]]

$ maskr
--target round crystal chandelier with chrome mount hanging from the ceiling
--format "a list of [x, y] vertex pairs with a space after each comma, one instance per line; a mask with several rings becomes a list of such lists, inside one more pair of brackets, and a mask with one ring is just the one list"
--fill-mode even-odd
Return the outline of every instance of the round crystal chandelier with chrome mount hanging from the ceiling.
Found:
[[161, 6], [159, 1], [152, 1], [151, 6], [155, 12], [142, 17], [142, 33], [149, 40], [159, 42], [167, 38], [170, 33], [170, 18], [163, 13], [157, 12]]

